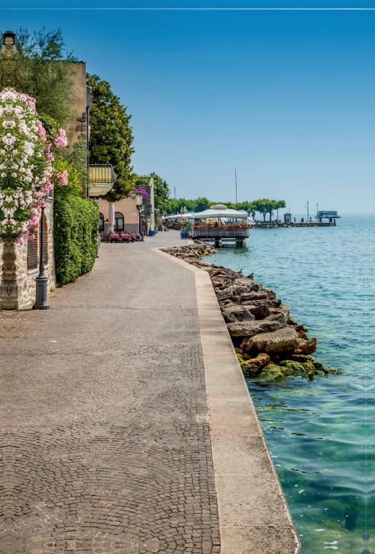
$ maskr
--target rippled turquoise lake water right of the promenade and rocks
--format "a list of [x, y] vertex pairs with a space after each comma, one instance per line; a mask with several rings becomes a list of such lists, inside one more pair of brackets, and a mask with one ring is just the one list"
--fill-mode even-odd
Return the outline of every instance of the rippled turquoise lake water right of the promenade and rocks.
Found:
[[275, 290], [341, 375], [248, 380], [302, 542], [302, 554], [375, 553], [375, 217], [338, 226], [253, 229], [210, 262]]

